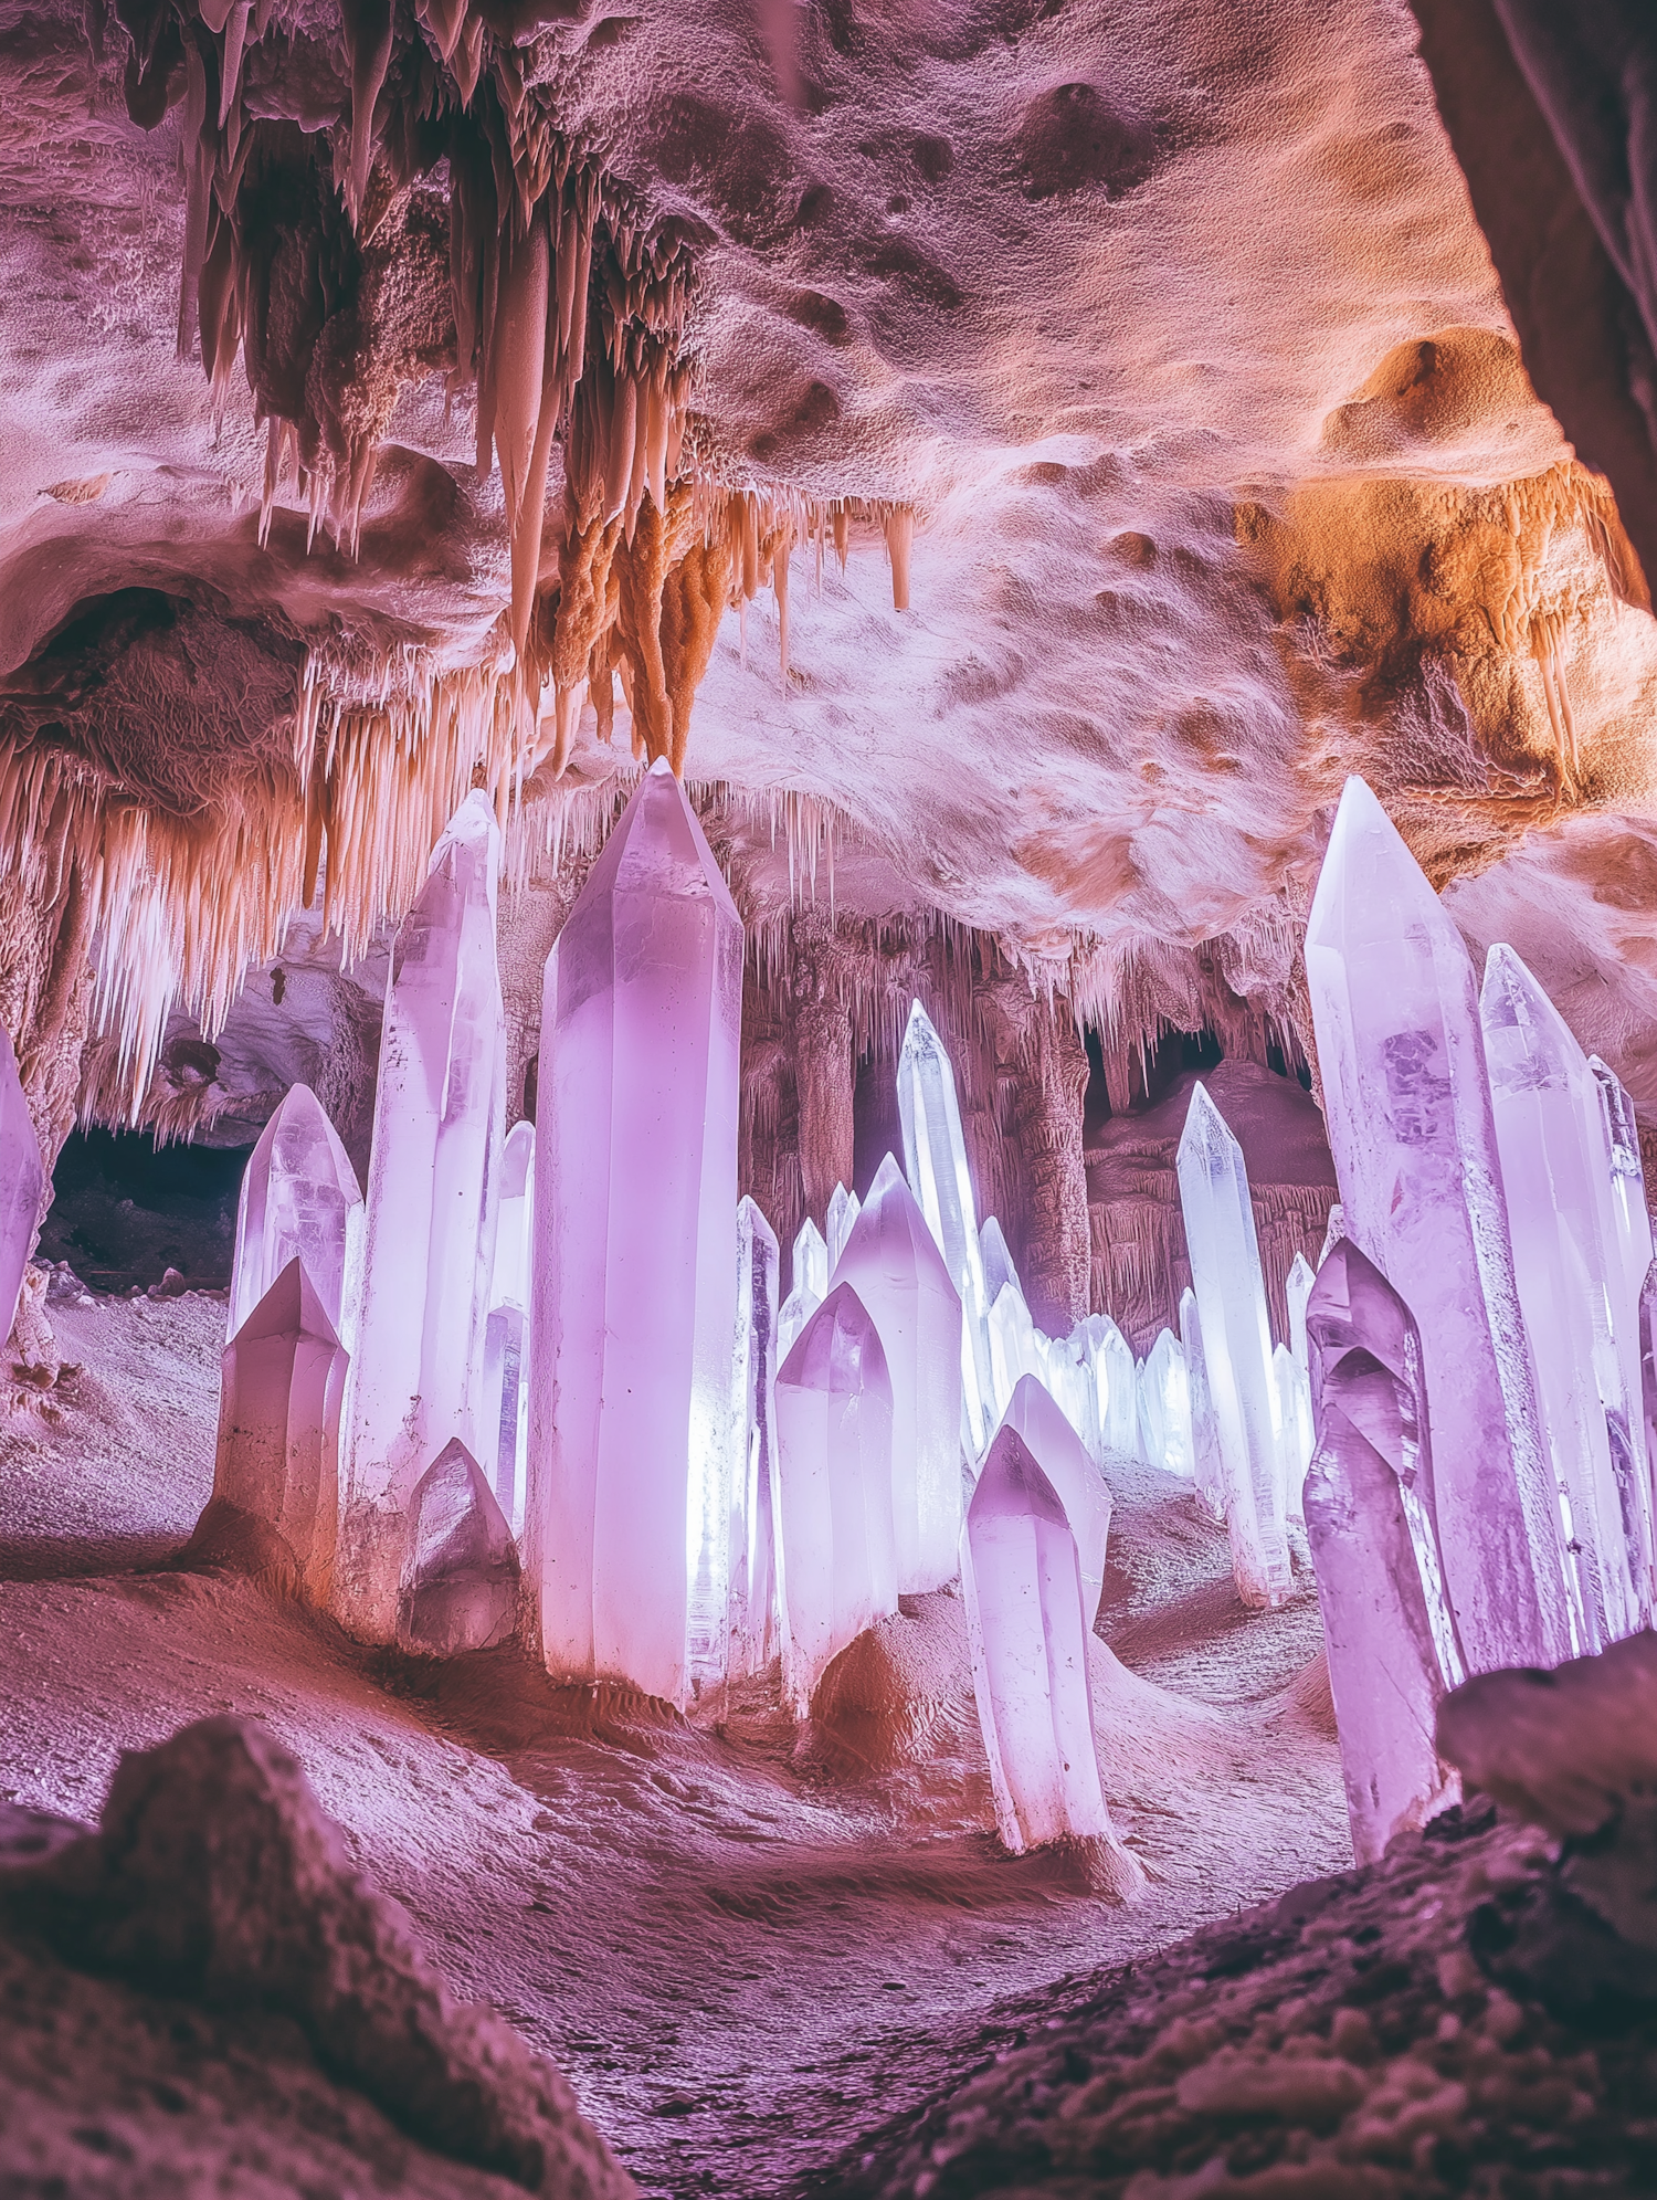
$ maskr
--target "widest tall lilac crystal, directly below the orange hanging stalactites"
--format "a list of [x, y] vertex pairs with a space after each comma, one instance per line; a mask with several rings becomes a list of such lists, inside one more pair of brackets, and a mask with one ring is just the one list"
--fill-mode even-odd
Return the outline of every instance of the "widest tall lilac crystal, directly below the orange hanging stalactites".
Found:
[[660, 759], [546, 964], [524, 1573], [555, 1676], [680, 1707], [726, 1643], [739, 1032], [742, 920]]

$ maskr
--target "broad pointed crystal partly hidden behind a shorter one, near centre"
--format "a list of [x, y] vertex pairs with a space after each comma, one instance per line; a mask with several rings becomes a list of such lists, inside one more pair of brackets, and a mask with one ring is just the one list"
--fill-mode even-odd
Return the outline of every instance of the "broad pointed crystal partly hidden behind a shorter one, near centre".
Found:
[[858, 1294], [891, 1379], [898, 1591], [942, 1588], [962, 1540], [962, 1302], [893, 1155], [876, 1170], [834, 1283]]

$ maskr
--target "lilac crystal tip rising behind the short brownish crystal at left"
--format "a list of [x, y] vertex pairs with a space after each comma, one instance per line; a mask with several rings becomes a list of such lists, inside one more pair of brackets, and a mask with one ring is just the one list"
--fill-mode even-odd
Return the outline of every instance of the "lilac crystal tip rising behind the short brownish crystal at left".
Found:
[[290, 1085], [242, 1173], [224, 1333], [235, 1335], [297, 1254], [334, 1335], [352, 1351], [363, 1225], [356, 1170], [328, 1111], [308, 1085]]

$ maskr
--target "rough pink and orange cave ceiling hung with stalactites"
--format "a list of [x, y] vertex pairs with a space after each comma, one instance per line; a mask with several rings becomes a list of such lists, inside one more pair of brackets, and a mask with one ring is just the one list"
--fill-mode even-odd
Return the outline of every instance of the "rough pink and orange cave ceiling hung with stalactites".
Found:
[[[761, 900], [766, 805], [803, 805], [849, 906], [942, 911], [1109, 1008], [1133, 957], [1283, 964], [1362, 770], [1657, 1104], [1657, 627], [1417, 35], [1402, 0], [7, 0], [0, 733], [156, 818], [174, 898], [233, 900], [257, 840], [260, 922], [174, 942], [200, 992], [319, 862], [348, 893], [436, 722], [363, 924], [469, 741], [548, 814], [629, 761], [559, 625], [607, 524], [623, 627], [651, 554], [658, 596], [678, 574], [645, 620], [667, 717], [634, 722], [748, 803]], [[577, 218], [537, 561], [511, 422], [570, 339], [526, 398], [502, 299], [539, 279], [557, 321]], [[312, 737], [370, 759], [326, 832]]]

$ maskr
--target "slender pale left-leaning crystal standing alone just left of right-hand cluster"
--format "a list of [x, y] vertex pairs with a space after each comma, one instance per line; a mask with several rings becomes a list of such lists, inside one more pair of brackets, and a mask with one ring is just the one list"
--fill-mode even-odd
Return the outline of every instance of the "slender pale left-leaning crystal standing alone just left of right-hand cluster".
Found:
[[1208, 1091], [1190, 1093], [1175, 1157], [1208, 1393], [1226, 1470], [1226, 1529], [1243, 1604], [1272, 1610], [1292, 1588], [1265, 1278], [1243, 1148]]

